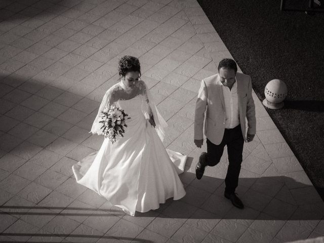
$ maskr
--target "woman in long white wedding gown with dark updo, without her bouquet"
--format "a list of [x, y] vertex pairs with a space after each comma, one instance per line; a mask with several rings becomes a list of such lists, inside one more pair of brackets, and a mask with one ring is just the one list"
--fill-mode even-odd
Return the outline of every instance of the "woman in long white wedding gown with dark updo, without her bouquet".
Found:
[[101, 111], [115, 105], [124, 109], [124, 137], [111, 143], [105, 138], [98, 152], [73, 165], [77, 183], [105, 197], [129, 215], [147, 212], [173, 197], [178, 200], [185, 190], [178, 177], [187, 156], [165, 149], [166, 121], [153, 102], [149, 89], [140, 80], [139, 60], [124, 56], [119, 60], [120, 82], [104, 95], [91, 132], [103, 135]]

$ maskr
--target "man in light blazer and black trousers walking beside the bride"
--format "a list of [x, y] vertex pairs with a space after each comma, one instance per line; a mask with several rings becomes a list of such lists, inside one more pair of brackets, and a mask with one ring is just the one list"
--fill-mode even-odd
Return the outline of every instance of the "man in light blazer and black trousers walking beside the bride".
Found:
[[224, 196], [230, 199], [235, 207], [243, 209], [244, 205], [236, 196], [235, 189], [241, 168], [243, 144], [244, 141], [253, 140], [256, 118], [251, 77], [237, 72], [236, 63], [232, 59], [220, 61], [218, 74], [201, 81], [194, 116], [194, 143], [199, 148], [204, 141], [204, 119], [207, 153], [203, 152], [199, 156], [196, 177], [201, 179], [206, 166], [219, 163], [224, 146], [227, 145], [229, 165]]

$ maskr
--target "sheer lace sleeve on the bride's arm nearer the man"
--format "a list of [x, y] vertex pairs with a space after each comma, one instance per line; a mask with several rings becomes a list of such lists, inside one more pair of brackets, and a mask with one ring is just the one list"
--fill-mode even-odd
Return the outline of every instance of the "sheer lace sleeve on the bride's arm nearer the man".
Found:
[[143, 106], [142, 110], [146, 118], [152, 117], [155, 122], [155, 130], [161, 141], [165, 138], [165, 128], [168, 127], [167, 122], [158, 112], [156, 105], [154, 103], [154, 99], [151, 95], [150, 90], [146, 86], [146, 84], [141, 80], [142, 92], [143, 92]]

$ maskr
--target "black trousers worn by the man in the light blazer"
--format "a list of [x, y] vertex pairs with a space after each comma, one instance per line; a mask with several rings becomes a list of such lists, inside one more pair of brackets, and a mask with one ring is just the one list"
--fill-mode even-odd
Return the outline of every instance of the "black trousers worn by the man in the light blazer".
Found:
[[239, 172], [241, 170], [244, 145], [244, 138], [240, 125], [232, 129], [225, 129], [223, 140], [219, 145], [216, 145], [207, 139], [207, 166], [216, 166], [219, 163], [225, 145], [227, 145], [229, 161], [225, 178], [225, 192], [234, 193], [238, 184]]

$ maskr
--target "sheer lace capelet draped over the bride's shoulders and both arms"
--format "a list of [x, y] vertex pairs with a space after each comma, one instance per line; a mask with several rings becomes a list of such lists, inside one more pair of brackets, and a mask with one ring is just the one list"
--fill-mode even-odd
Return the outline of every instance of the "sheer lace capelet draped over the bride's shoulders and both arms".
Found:
[[107, 90], [102, 99], [97, 116], [92, 125], [91, 133], [103, 135], [103, 132], [101, 131], [102, 125], [99, 123], [99, 116], [101, 114], [101, 111], [103, 111], [105, 108], [109, 108], [118, 100], [130, 100], [139, 95], [142, 99], [141, 110], [145, 118], [149, 119], [149, 117], [153, 115], [156, 125], [155, 130], [159, 138], [163, 141], [165, 138], [165, 128], [168, 126], [168, 124], [158, 112], [152, 94], [150, 93], [147, 85], [143, 82], [143, 80], [139, 80], [139, 82], [137, 82], [136, 86], [132, 90], [127, 88], [122, 81], [113, 85], [109, 90]]

